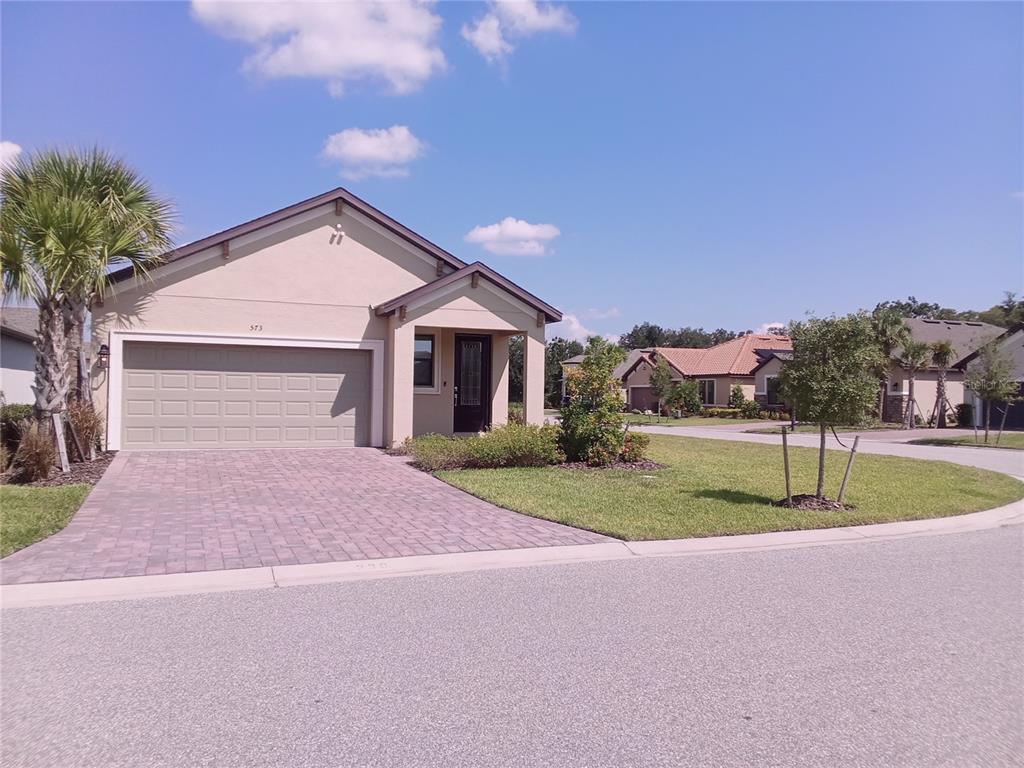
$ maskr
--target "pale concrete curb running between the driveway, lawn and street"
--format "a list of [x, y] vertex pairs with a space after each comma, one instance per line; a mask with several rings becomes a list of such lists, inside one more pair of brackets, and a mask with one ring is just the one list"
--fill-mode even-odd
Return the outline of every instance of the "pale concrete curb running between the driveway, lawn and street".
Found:
[[417, 555], [352, 562], [279, 565], [196, 573], [92, 579], [79, 582], [13, 584], [0, 587], [0, 607], [29, 608], [45, 605], [135, 600], [148, 597], [273, 589], [310, 584], [337, 584], [406, 575], [462, 573], [474, 570], [555, 565], [648, 557], [763, 552], [944, 536], [1024, 523], [1024, 501], [985, 512], [928, 520], [887, 522], [815, 530], [722, 536], [708, 539], [674, 539], [653, 542], [610, 542], [569, 547], [537, 547], [451, 555]]

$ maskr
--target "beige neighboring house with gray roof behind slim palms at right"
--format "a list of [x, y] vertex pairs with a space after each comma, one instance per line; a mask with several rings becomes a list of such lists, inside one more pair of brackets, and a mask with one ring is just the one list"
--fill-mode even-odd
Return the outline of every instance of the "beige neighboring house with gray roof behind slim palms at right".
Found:
[[[946, 401], [950, 409], [965, 401], [963, 361], [980, 347], [1000, 336], [1006, 329], [975, 321], [940, 321], [907, 317], [904, 321], [910, 337], [918, 342], [933, 344], [949, 341], [953, 346], [953, 362], [946, 372]], [[900, 350], [893, 354], [886, 382], [886, 399], [882, 420], [902, 422], [910, 398], [910, 377], [899, 361]], [[915, 415], [928, 422], [935, 415], [936, 383], [938, 371], [929, 366], [914, 374], [913, 398]]]

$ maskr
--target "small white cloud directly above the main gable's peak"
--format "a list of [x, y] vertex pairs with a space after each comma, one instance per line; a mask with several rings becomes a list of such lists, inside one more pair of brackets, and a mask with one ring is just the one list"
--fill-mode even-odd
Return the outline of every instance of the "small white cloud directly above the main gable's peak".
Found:
[[340, 164], [342, 176], [357, 181], [368, 176], [408, 176], [409, 164], [423, 155], [426, 146], [404, 125], [346, 128], [327, 137], [321, 155]]

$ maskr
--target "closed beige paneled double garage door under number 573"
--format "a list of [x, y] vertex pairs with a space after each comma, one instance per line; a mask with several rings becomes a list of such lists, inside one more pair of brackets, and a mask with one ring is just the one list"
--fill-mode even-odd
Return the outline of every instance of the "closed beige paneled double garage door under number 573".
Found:
[[126, 342], [124, 449], [370, 444], [370, 352]]

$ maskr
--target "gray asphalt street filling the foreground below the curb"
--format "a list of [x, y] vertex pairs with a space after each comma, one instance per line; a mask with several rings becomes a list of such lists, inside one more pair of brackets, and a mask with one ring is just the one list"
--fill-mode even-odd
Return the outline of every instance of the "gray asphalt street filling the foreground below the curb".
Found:
[[1010, 766], [1024, 527], [2, 613], [14, 766]]

